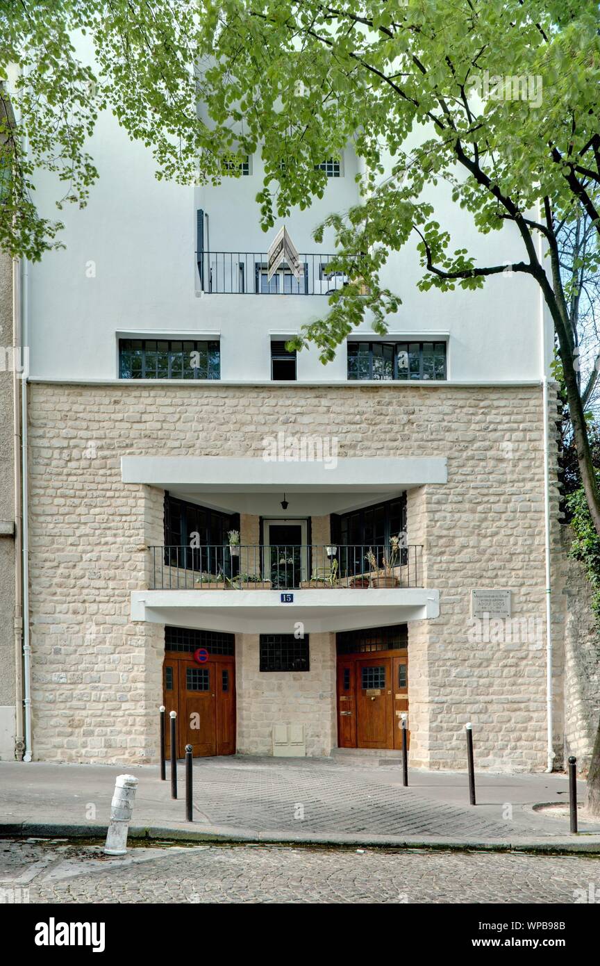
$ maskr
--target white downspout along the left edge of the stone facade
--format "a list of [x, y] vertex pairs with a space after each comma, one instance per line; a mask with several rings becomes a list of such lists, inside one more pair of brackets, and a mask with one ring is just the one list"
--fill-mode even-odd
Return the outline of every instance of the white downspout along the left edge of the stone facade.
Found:
[[28, 265], [21, 263], [21, 333], [23, 342], [23, 373], [21, 376], [21, 484], [23, 508], [23, 706], [25, 709], [25, 753], [23, 761], [32, 759], [31, 742], [31, 642], [29, 634], [29, 476], [27, 454], [27, 382], [29, 379], [28, 346]]

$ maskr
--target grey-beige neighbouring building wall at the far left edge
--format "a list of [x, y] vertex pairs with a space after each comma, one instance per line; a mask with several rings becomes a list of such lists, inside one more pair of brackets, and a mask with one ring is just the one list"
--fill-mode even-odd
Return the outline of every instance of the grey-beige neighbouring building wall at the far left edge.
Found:
[[[0, 252], [0, 759], [14, 758], [13, 262]], [[5, 361], [7, 360], [7, 361]]]

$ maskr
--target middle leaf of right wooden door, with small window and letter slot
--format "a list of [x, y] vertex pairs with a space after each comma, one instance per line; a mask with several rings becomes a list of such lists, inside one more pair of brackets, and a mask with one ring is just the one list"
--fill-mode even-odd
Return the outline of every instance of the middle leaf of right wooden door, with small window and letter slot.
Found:
[[392, 658], [356, 662], [358, 748], [394, 748]]

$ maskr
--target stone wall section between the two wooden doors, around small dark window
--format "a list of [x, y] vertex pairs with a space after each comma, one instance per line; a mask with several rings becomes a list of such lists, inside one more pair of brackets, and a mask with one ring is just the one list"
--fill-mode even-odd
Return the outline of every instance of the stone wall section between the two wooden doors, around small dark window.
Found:
[[309, 653], [309, 671], [261, 672], [259, 636], [236, 635], [238, 753], [271, 754], [273, 725], [285, 723], [305, 725], [308, 755], [327, 755], [335, 747], [335, 635], [311, 634]]

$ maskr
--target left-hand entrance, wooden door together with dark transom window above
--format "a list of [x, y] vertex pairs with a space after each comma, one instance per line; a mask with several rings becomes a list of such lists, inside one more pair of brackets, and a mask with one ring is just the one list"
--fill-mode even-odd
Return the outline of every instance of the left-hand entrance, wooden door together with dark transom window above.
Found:
[[[177, 757], [235, 753], [235, 639], [187, 628], [165, 628], [163, 703], [167, 754], [169, 712], [177, 712]], [[202, 660], [199, 660], [202, 659]]]

